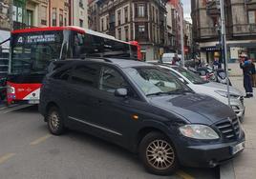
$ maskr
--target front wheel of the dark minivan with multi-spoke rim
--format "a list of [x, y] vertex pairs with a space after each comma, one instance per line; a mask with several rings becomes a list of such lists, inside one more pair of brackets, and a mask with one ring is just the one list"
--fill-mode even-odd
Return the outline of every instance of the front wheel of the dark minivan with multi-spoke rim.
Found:
[[142, 139], [139, 155], [145, 169], [153, 174], [172, 174], [179, 167], [174, 145], [160, 132], [151, 132]]

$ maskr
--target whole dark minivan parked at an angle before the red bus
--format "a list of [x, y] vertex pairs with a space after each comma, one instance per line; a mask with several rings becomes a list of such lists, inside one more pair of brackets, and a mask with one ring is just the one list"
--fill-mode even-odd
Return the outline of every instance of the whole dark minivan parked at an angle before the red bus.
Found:
[[213, 168], [245, 149], [232, 109], [157, 66], [98, 58], [50, 67], [39, 110], [55, 135], [93, 134], [139, 153], [145, 168], [160, 175], [179, 165]]

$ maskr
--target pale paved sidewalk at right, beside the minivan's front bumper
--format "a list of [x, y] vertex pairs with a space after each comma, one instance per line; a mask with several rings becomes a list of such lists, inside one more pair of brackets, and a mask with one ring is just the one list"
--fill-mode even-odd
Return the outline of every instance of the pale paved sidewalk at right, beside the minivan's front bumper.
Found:
[[[245, 91], [243, 87], [243, 77], [231, 77], [233, 86]], [[230, 164], [229, 176], [235, 179], [255, 179], [256, 178], [256, 89], [254, 88], [254, 98], [245, 99], [245, 120], [243, 128], [246, 134], [245, 150], [236, 157]], [[230, 165], [229, 164], [229, 165]], [[225, 177], [225, 178], [232, 178]]]

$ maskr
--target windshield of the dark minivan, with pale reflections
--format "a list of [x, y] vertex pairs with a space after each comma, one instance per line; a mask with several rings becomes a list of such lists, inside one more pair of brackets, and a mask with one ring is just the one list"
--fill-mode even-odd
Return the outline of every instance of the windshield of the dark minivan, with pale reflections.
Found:
[[193, 92], [167, 70], [157, 67], [129, 68], [126, 73], [146, 96]]

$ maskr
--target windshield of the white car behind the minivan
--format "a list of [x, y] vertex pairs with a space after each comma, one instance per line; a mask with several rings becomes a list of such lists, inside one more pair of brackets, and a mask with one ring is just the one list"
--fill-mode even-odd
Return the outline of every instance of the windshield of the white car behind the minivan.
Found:
[[186, 77], [193, 84], [208, 83], [208, 81], [203, 80], [203, 78], [201, 78], [198, 74], [195, 74], [194, 72], [192, 72], [190, 70], [185, 70], [185, 69], [179, 68], [179, 67], [173, 67], [172, 69], [180, 72], [184, 77]]

